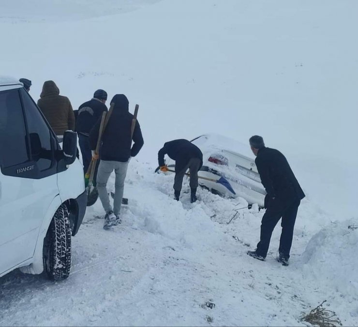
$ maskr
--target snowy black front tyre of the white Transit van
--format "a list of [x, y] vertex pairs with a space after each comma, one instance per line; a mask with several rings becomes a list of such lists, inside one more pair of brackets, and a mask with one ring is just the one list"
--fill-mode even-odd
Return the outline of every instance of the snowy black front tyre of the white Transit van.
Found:
[[50, 280], [64, 280], [71, 269], [70, 215], [65, 204], [57, 209], [44, 240], [44, 267]]

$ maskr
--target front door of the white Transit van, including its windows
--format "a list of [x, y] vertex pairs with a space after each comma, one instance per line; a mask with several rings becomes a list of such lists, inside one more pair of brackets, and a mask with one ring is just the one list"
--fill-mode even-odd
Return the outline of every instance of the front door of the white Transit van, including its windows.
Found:
[[23, 88], [0, 91], [0, 274], [33, 256], [57, 187], [56, 140]]

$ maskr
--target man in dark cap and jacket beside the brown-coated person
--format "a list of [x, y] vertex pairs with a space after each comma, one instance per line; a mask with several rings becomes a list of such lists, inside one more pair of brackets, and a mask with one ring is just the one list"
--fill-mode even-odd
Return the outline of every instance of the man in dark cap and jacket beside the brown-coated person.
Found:
[[[90, 130], [102, 117], [102, 113], [107, 111], [105, 101], [107, 100], [107, 93], [104, 90], [97, 90], [93, 94], [90, 101], [79, 106], [77, 111], [75, 130], [78, 134], [78, 143], [82, 153], [83, 171], [86, 174], [92, 159], [89, 135]], [[99, 160], [97, 160], [96, 170], [93, 176], [93, 186], [96, 187], [96, 178], [98, 171]]]

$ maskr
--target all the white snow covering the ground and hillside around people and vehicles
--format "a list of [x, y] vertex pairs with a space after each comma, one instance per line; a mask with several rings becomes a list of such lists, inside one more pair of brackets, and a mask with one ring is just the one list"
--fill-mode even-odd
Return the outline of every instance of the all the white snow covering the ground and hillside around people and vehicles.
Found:
[[[1, 75], [30, 78], [35, 100], [53, 79], [74, 108], [124, 93], [145, 145], [123, 224], [104, 231], [97, 202], [68, 280], [2, 277], [0, 326], [297, 326], [326, 299], [357, 326], [357, 14], [353, 0], [1, 1]], [[244, 200], [175, 202], [173, 176], [153, 173], [165, 141], [209, 132], [287, 156], [307, 194], [289, 267], [279, 227], [266, 263], [246, 255], [262, 211], [227, 224]]]

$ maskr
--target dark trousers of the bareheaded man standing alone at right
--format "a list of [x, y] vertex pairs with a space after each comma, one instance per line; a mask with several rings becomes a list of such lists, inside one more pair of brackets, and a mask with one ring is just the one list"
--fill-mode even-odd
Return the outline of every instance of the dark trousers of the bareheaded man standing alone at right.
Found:
[[[272, 232], [277, 225], [278, 221], [282, 217], [281, 226], [281, 238], [279, 253], [285, 258], [290, 257], [290, 250], [292, 246], [293, 230], [295, 227], [296, 216], [300, 200], [291, 202], [288, 206], [284, 207], [278, 200], [271, 200], [266, 209], [266, 213], [261, 221], [261, 235], [260, 242], [257, 244], [257, 253], [266, 257], [268, 247], [270, 245], [270, 239]], [[276, 202], [276, 203], [275, 203]]]

